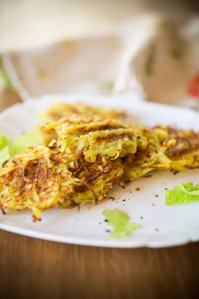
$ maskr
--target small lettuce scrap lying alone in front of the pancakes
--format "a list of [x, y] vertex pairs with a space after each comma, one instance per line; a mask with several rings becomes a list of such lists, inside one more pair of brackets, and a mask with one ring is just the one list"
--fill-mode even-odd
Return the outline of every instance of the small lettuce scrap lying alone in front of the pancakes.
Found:
[[106, 218], [108, 224], [113, 226], [114, 229], [110, 236], [114, 238], [123, 238], [139, 227], [137, 223], [128, 222], [130, 217], [118, 208], [113, 210], [105, 209], [102, 215]]

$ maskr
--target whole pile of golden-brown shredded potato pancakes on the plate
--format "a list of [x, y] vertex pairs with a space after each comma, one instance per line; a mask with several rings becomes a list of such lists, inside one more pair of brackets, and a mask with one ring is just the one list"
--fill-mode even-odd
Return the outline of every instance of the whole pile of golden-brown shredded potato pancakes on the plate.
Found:
[[115, 184], [199, 167], [199, 134], [158, 126], [124, 125], [125, 113], [59, 104], [43, 115], [45, 145], [28, 148], [0, 169], [0, 207], [73, 208], [105, 199]]

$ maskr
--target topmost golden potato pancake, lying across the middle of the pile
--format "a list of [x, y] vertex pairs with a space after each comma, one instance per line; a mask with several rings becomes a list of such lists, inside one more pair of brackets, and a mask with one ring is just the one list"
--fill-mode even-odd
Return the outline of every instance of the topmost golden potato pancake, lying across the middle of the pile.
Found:
[[[111, 119], [98, 121], [97, 117], [80, 119], [79, 122], [77, 119], [73, 116], [72, 120], [61, 119], [50, 125], [59, 136], [57, 142], [54, 140], [51, 145], [56, 142], [60, 151], [72, 159], [82, 149], [85, 160], [95, 162], [99, 155], [105, 160], [115, 160], [118, 156], [134, 154], [137, 148], [147, 147], [146, 138], [135, 125], [124, 126], [120, 121]], [[44, 127], [44, 130], [48, 129], [49, 125]]]

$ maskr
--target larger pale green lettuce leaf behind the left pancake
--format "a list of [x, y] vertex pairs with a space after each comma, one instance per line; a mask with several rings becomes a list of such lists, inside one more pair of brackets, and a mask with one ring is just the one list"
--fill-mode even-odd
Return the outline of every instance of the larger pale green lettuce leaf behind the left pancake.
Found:
[[12, 143], [14, 153], [22, 153], [28, 147], [43, 145], [43, 135], [41, 130], [34, 128], [32, 131], [15, 137]]

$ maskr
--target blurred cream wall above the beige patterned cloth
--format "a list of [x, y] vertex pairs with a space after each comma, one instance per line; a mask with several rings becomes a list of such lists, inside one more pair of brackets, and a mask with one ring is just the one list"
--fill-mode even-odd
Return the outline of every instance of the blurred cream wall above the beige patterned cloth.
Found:
[[198, 8], [198, 0], [0, 0], [0, 51], [109, 34], [142, 13]]

